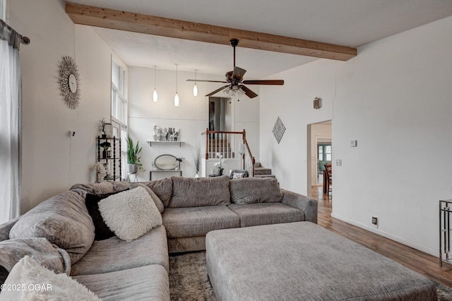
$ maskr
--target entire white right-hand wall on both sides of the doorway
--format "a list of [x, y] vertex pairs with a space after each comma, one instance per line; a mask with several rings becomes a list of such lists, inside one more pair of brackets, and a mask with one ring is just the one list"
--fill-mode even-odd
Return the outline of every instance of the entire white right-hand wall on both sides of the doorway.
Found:
[[[276, 93], [261, 89], [261, 157], [282, 187], [306, 194], [296, 185], [306, 182], [305, 129], [331, 117], [333, 165], [343, 160], [334, 166], [332, 216], [437, 255], [438, 200], [452, 187], [451, 31], [449, 17], [360, 47], [350, 61], [280, 73], [290, 82], [271, 110]], [[330, 106], [312, 110], [316, 96]], [[277, 115], [287, 127], [279, 146]]]

